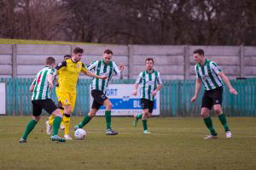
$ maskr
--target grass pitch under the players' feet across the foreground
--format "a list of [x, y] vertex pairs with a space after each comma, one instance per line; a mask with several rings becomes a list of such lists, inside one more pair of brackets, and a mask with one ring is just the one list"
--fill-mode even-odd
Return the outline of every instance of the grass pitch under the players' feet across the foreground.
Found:
[[[116, 136], [106, 136], [104, 117], [95, 117], [86, 139], [64, 144], [49, 140], [46, 118], [19, 144], [30, 117], [0, 116], [0, 169], [256, 169], [256, 117], [228, 117], [232, 139], [213, 118], [218, 139], [211, 140], [203, 139], [208, 131], [199, 117], [151, 118], [149, 135], [142, 122], [132, 127], [131, 117], [113, 117]], [[72, 117], [71, 127], [82, 118]]]

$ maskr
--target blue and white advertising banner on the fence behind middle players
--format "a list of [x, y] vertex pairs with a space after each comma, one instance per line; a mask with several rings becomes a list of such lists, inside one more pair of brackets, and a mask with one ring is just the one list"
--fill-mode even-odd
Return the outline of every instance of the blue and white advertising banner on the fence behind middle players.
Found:
[[[139, 92], [137, 96], [132, 95], [134, 84], [110, 84], [106, 95], [110, 99], [113, 107], [111, 115], [113, 116], [133, 116], [141, 113], [142, 107]], [[139, 88], [138, 88], [139, 89]], [[139, 91], [139, 90], [138, 90]], [[90, 95], [90, 107], [93, 98]], [[96, 116], [105, 115], [105, 107], [102, 105]], [[160, 93], [154, 99], [154, 116], [160, 115]]]

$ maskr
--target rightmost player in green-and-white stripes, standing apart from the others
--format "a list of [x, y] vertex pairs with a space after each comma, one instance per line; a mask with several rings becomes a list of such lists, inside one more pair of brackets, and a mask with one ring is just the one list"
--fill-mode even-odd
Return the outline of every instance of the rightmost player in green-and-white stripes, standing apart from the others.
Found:
[[212, 106], [213, 110], [218, 115], [219, 121], [224, 126], [226, 139], [230, 139], [232, 138], [232, 134], [230, 133], [230, 128], [228, 127], [228, 123], [221, 106], [224, 86], [222, 79], [230, 89], [231, 94], [237, 95], [236, 89], [231, 86], [228, 77], [224, 75], [224, 72], [221, 71], [218, 65], [212, 60], [205, 58], [204, 51], [202, 49], [196, 49], [193, 53], [193, 57], [196, 62], [196, 83], [195, 95], [191, 98], [191, 102], [195, 102], [197, 99], [202, 83], [205, 88], [205, 93], [201, 103], [201, 116], [204, 118], [204, 122], [211, 133], [210, 135], [207, 135], [205, 139], [217, 139], [217, 133], [214, 130], [212, 119], [210, 117]]

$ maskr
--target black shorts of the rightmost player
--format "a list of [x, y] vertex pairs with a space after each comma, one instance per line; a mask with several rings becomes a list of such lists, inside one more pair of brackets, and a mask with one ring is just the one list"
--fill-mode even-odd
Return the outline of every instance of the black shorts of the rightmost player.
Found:
[[222, 105], [223, 88], [215, 88], [213, 90], [206, 90], [201, 102], [201, 108], [207, 107], [212, 109], [212, 105]]

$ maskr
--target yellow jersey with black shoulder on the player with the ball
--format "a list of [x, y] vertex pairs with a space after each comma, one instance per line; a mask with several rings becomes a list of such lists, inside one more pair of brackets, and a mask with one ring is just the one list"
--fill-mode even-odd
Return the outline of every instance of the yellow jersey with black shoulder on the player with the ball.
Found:
[[62, 61], [55, 66], [55, 69], [59, 76], [59, 92], [76, 92], [79, 73], [82, 71], [86, 74], [87, 72], [81, 61], [75, 63], [72, 59]]

